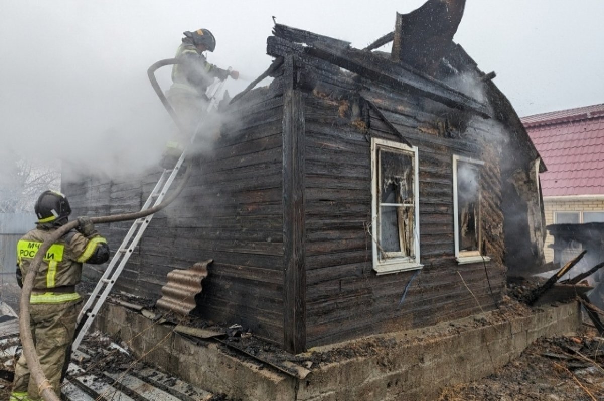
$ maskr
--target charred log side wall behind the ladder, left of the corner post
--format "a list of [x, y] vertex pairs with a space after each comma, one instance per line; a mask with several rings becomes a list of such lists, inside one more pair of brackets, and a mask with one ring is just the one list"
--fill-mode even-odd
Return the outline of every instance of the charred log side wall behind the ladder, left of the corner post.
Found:
[[[196, 160], [187, 187], [156, 214], [115, 289], [156, 299], [172, 269], [213, 259], [198, 312], [220, 324], [240, 323], [272, 341], [283, 341], [283, 96], [250, 92], [223, 114], [213, 149]], [[77, 214], [140, 210], [158, 173], [124, 182], [66, 185]], [[178, 179], [177, 179], [178, 180]], [[178, 185], [175, 182], [174, 185]], [[173, 186], [174, 186], [173, 185]], [[130, 223], [111, 225], [118, 248]], [[94, 269], [86, 269], [98, 278]]]

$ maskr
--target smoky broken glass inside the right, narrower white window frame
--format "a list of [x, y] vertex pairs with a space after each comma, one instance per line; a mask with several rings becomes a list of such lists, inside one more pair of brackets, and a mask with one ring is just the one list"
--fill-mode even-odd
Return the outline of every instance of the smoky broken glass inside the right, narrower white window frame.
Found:
[[480, 170], [478, 165], [457, 162], [457, 222], [460, 252], [479, 251]]

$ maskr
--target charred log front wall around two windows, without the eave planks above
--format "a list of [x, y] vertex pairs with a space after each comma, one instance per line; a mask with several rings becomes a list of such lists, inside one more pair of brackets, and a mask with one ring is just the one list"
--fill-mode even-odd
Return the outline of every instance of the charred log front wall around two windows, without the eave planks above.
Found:
[[[377, 276], [372, 269], [371, 156], [368, 136], [400, 138], [373, 111], [368, 131], [344, 123], [345, 101], [309, 94], [306, 115], [307, 345], [365, 333], [422, 327], [495, 306], [504, 287], [503, 214], [498, 158], [480, 133], [463, 140], [439, 135], [439, 115], [419, 98], [370, 88], [364, 96], [419, 147], [420, 249], [424, 268]], [[494, 151], [491, 153], [495, 153]], [[452, 156], [486, 159], [481, 201], [486, 263], [458, 265], [454, 257]], [[487, 280], [487, 274], [489, 280]], [[405, 287], [411, 283], [405, 300]], [[402, 302], [401, 302], [402, 301]]]

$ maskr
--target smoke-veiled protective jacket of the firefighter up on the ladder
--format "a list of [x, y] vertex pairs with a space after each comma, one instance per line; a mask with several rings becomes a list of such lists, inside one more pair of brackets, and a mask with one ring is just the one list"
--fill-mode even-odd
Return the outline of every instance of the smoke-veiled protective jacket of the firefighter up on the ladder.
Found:
[[176, 51], [175, 59], [182, 63], [172, 66], [172, 86], [170, 92], [183, 91], [205, 97], [205, 91], [214, 77], [225, 80], [229, 76], [227, 69], [208, 63], [203, 54], [187, 38]]

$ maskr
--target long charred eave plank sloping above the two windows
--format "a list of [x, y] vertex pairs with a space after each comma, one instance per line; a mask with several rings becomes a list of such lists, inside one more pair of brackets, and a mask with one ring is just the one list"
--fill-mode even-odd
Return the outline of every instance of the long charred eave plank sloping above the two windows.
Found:
[[315, 43], [312, 47], [304, 48], [304, 51], [363, 77], [387, 83], [395, 90], [415, 92], [455, 109], [471, 110], [481, 117], [490, 117], [484, 104], [455, 91], [442, 82], [431, 79], [428, 75], [402, 66], [400, 63], [391, 62], [384, 57], [375, 56], [362, 50], [342, 50], [324, 43]]

